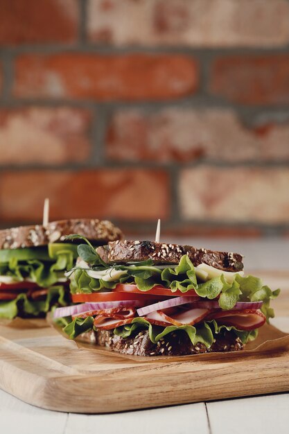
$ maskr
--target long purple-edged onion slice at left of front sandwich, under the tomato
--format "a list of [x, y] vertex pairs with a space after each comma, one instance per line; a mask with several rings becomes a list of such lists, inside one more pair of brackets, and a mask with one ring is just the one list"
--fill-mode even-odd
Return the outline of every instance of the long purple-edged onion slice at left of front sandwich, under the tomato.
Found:
[[104, 309], [113, 309], [114, 307], [126, 306], [141, 306], [143, 302], [140, 300], [121, 300], [118, 302], [99, 302], [99, 303], [82, 303], [75, 304], [74, 306], [58, 307], [55, 309], [53, 317], [62, 318], [64, 316], [76, 316], [80, 313], [89, 311], [102, 311]]

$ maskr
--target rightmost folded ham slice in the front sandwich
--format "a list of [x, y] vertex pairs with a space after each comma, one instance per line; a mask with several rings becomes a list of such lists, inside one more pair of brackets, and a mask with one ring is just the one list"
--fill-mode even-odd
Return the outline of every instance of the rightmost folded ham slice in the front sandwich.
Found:
[[221, 311], [210, 315], [219, 325], [234, 326], [239, 330], [254, 330], [265, 324], [266, 317], [261, 311]]

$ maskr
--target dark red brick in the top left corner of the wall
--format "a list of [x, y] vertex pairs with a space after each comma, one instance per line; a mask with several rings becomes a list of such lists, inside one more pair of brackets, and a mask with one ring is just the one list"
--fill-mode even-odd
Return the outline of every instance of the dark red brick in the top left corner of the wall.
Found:
[[77, 0], [1, 0], [0, 44], [73, 42]]

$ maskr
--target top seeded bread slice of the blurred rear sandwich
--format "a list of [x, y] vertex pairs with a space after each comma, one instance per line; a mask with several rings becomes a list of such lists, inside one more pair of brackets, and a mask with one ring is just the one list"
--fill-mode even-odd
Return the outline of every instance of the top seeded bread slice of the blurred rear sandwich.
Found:
[[123, 238], [121, 229], [108, 220], [97, 218], [80, 218], [58, 220], [43, 225], [19, 226], [0, 231], [0, 249], [19, 249], [58, 243], [65, 236], [79, 234], [85, 236], [96, 245], [107, 244], [109, 241]]

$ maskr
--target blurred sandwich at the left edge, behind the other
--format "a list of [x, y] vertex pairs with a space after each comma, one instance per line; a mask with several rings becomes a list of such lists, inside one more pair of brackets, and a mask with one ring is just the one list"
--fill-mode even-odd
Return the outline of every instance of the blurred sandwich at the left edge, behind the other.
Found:
[[0, 231], [0, 318], [43, 317], [53, 306], [70, 300], [67, 268], [76, 265], [77, 232], [96, 246], [122, 238], [107, 220], [60, 220], [47, 225], [20, 226]]

